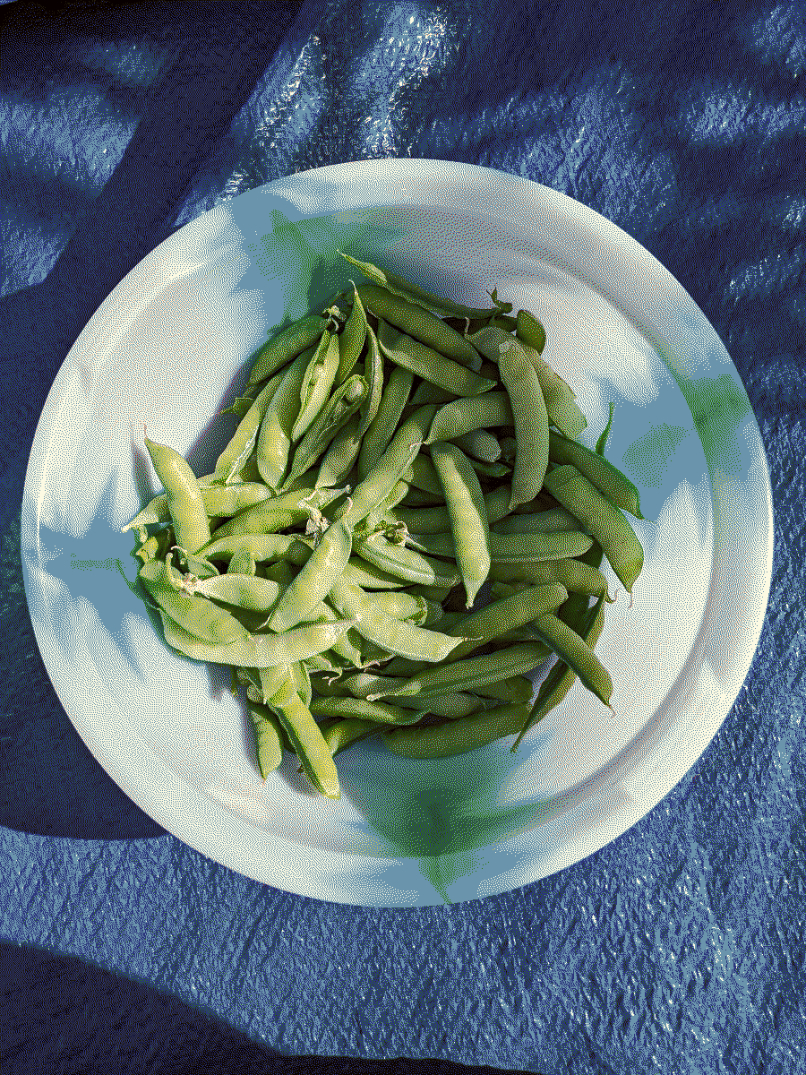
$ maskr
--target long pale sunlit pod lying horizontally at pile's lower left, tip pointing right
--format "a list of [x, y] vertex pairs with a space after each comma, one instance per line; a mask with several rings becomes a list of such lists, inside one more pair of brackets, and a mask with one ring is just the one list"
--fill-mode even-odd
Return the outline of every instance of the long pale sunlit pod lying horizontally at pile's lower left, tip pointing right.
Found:
[[355, 626], [349, 619], [334, 624], [310, 624], [283, 634], [247, 634], [245, 639], [235, 639], [228, 644], [212, 645], [195, 637], [162, 610], [160, 615], [169, 646], [197, 661], [234, 664], [236, 668], [262, 669], [304, 661], [314, 654], [330, 649], [345, 631]]

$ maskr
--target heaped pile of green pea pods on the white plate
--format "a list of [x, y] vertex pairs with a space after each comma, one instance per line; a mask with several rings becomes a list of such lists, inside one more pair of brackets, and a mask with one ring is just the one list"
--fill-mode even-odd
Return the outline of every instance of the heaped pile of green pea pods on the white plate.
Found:
[[575, 678], [609, 706], [599, 569], [632, 592], [644, 562], [613, 407], [591, 452], [539, 321], [346, 260], [371, 283], [254, 356], [213, 474], [146, 439], [164, 492], [124, 528], [165, 642], [245, 688], [261, 776], [293, 751], [330, 798], [334, 756], [370, 735], [409, 758], [515, 749]]

